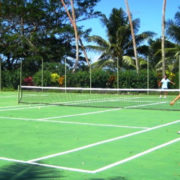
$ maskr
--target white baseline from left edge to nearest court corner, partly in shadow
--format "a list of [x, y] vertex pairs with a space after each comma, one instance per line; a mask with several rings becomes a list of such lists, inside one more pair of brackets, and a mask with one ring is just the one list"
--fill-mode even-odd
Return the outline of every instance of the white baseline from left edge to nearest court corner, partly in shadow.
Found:
[[5, 158], [5, 157], [0, 157], [0, 160], [17, 162], [17, 163], [22, 163], [22, 164], [29, 164], [29, 165], [36, 165], [36, 166], [42, 166], [42, 167], [48, 167], [48, 168], [54, 168], [54, 169], [62, 169], [62, 170], [67, 170], [67, 171], [81, 172], [81, 173], [94, 173], [94, 171], [89, 171], [89, 170], [84, 170], [84, 169], [69, 168], [69, 167], [64, 167], [64, 166], [55, 166], [55, 165], [35, 163], [35, 162], [27, 162], [27, 161]]

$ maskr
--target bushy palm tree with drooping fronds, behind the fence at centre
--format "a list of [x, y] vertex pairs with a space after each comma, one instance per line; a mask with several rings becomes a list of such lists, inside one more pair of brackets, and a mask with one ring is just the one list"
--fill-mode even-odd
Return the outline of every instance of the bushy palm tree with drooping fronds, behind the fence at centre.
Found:
[[[101, 52], [97, 67], [111, 66], [114, 69], [136, 67], [133, 57], [133, 43], [128, 17], [123, 9], [113, 9], [109, 18], [102, 16], [102, 22], [107, 29], [108, 40], [99, 36], [89, 37], [89, 41], [95, 42], [96, 45], [88, 46], [89, 49]], [[132, 21], [139, 53], [143, 51], [141, 46], [144, 40], [153, 36], [152, 32], [137, 34], [139, 28], [139, 19]]]

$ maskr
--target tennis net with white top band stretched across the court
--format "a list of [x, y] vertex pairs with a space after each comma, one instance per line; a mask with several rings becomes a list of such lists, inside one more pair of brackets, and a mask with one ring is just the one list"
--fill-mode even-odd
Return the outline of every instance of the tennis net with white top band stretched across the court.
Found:
[[[21, 86], [18, 102], [82, 107], [180, 110], [180, 101], [169, 103], [179, 89], [107, 89]], [[161, 97], [160, 97], [161, 96]]]

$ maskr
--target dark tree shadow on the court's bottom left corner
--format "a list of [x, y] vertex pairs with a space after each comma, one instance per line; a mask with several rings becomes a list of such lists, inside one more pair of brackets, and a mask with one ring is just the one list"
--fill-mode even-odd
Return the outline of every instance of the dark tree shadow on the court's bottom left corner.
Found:
[[0, 169], [0, 180], [60, 179], [61, 171], [30, 164], [11, 164]]

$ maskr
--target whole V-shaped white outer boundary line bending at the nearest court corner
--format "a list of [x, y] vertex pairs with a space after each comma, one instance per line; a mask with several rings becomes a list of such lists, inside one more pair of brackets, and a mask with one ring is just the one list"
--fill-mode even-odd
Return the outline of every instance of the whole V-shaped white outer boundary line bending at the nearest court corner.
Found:
[[50, 164], [42, 164], [42, 163], [29, 162], [29, 161], [23, 161], [23, 160], [17, 160], [17, 159], [5, 158], [5, 157], [0, 157], [0, 160], [10, 161], [10, 162], [17, 162], [17, 163], [23, 163], [23, 164], [29, 164], [29, 165], [37, 165], [37, 166], [42, 166], [42, 167], [54, 168], [54, 169], [62, 169], [62, 170], [67, 170], [67, 171], [96, 174], [96, 173], [99, 173], [99, 172], [111, 169], [111, 168], [113, 168], [115, 166], [119, 166], [121, 164], [124, 164], [124, 163], [126, 163], [128, 161], [137, 159], [139, 157], [142, 157], [142, 156], [144, 156], [146, 154], [149, 154], [151, 152], [157, 151], [159, 149], [162, 149], [162, 148], [164, 148], [166, 146], [169, 146], [171, 144], [177, 143], [179, 141], [180, 141], [180, 138], [173, 139], [171, 141], [168, 141], [166, 143], [157, 145], [157, 146], [155, 146], [153, 148], [147, 149], [147, 150], [145, 150], [145, 151], [143, 151], [141, 153], [137, 153], [137, 154], [135, 154], [133, 156], [130, 156], [128, 158], [125, 158], [123, 160], [117, 161], [117, 162], [109, 164], [107, 166], [103, 166], [101, 168], [98, 168], [96, 170], [85, 170], [85, 169], [78, 169], [78, 168], [70, 168], [70, 167], [56, 166], [56, 165], [50, 165]]

